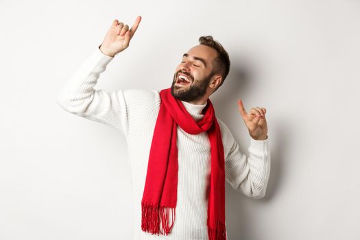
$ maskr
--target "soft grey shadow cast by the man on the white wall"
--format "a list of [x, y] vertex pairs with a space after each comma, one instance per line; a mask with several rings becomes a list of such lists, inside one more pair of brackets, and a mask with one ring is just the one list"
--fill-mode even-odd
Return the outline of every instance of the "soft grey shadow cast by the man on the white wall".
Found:
[[[235, 61], [234, 61], [235, 62]], [[219, 93], [214, 94], [212, 101], [217, 105], [216, 111], [220, 119], [224, 119], [225, 123], [234, 122], [234, 119], [241, 119], [241, 115], [237, 108], [237, 100], [247, 94], [248, 88], [251, 88], [251, 82], [253, 75], [251, 74], [252, 67], [246, 67], [246, 64], [241, 64], [242, 67], [232, 67], [226, 82], [218, 90]], [[237, 111], [234, 111], [236, 108]], [[245, 106], [246, 110], [250, 108]], [[273, 120], [274, 121], [274, 118]], [[281, 182], [283, 176], [283, 150], [287, 147], [287, 125], [276, 120], [277, 123], [272, 122], [272, 132], [276, 132], [278, 139], [275, 136], [269, 136], [271, 138], [269, 147], [271, 151], [271, 169], [269, 175], [269, 182], [267, 183], [267, 191], [265, 197], [261, 200], [247, 199], [243, 193], [239, 193], [230, 187], [230, 184], [226, 184], [226, 225], [228, 232], [228, 239], [253, 239], [256, 230], [257, 223], [252, 216], [248, 214], [245, 208], [246, 204], [241, 204], [243, 200], [259, 201], [259, 204], [267, 204], [272, 197], [276, 194], [276, 190]], [[243, 124], [243, 122], [241, 122]], [[274, 128], [275, 126], [275, 128]], [[245, 127], [245, 126], [244, 126]], [[230, 127], [229, 127], [230, 128]], [[235, 130], [236, 128], [230, 128]], [[236, 139], [236, 138], [235, 138]], [[237, 139], [238, 140], [238, 139]], [[275, 145], [276, 143], [276, 145]], [[245, 153], [245, 152], [244, 152]], [[268, 220], [272, 221], [274, 216], [269, 216]]]

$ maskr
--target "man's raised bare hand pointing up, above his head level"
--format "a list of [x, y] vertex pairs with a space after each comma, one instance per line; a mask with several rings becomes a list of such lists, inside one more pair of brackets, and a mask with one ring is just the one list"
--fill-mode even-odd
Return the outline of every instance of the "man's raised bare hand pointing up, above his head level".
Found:
[[101, 43], [100, 50], [110, 57], [114, 57], [115, 54], [125, 50], [129, 47], [130, 39], [139, 27], [140, 21], [141, 16], [137, 16], [130, 30], [129, 25], [123, 24], [117, 19], [112, 21], [111, 27]]

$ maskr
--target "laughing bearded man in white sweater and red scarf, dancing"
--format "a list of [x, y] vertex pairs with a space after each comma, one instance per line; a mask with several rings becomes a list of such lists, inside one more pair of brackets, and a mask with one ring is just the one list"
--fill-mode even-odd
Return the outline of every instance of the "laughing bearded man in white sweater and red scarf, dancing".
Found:
[[111, 125], [128, 143], [135, 239], [226, 239], [225, 180], [256, 199], [270, 169], [265, 108], [239, 111], [250, 133], [250, 156], [215, 117], [208, 97], [223, 84], [228, 53], [211, 36], [182, 56], [171, 88], [95, 90], [100, 73], [129, 46], [139, 27], [114, 20], [97, 47], [64, 85], [64, 110]]

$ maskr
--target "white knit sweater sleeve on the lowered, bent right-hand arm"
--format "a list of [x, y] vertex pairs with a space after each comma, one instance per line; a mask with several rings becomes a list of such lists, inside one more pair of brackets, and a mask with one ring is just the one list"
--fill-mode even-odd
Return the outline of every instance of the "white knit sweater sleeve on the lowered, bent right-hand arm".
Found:
[[269, 138], [259, 141], [250, 136], [247, 156], [240, 152], [239, 144], [228, 127], [222, 125], [226, 181], [248, 197], [264, 197], [270, 173]]

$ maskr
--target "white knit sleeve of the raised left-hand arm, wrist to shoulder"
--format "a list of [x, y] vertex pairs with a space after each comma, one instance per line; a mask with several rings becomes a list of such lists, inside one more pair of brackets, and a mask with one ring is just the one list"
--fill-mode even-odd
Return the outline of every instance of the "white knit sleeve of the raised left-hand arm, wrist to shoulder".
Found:
[[97, 47], [58, 92], [57, 102], [67, 112], [110, 125], [128, 136], [131, 123], [159, 101], [158, 93], [144, 89], [95, 90], [99, 75], [112, 59]]

